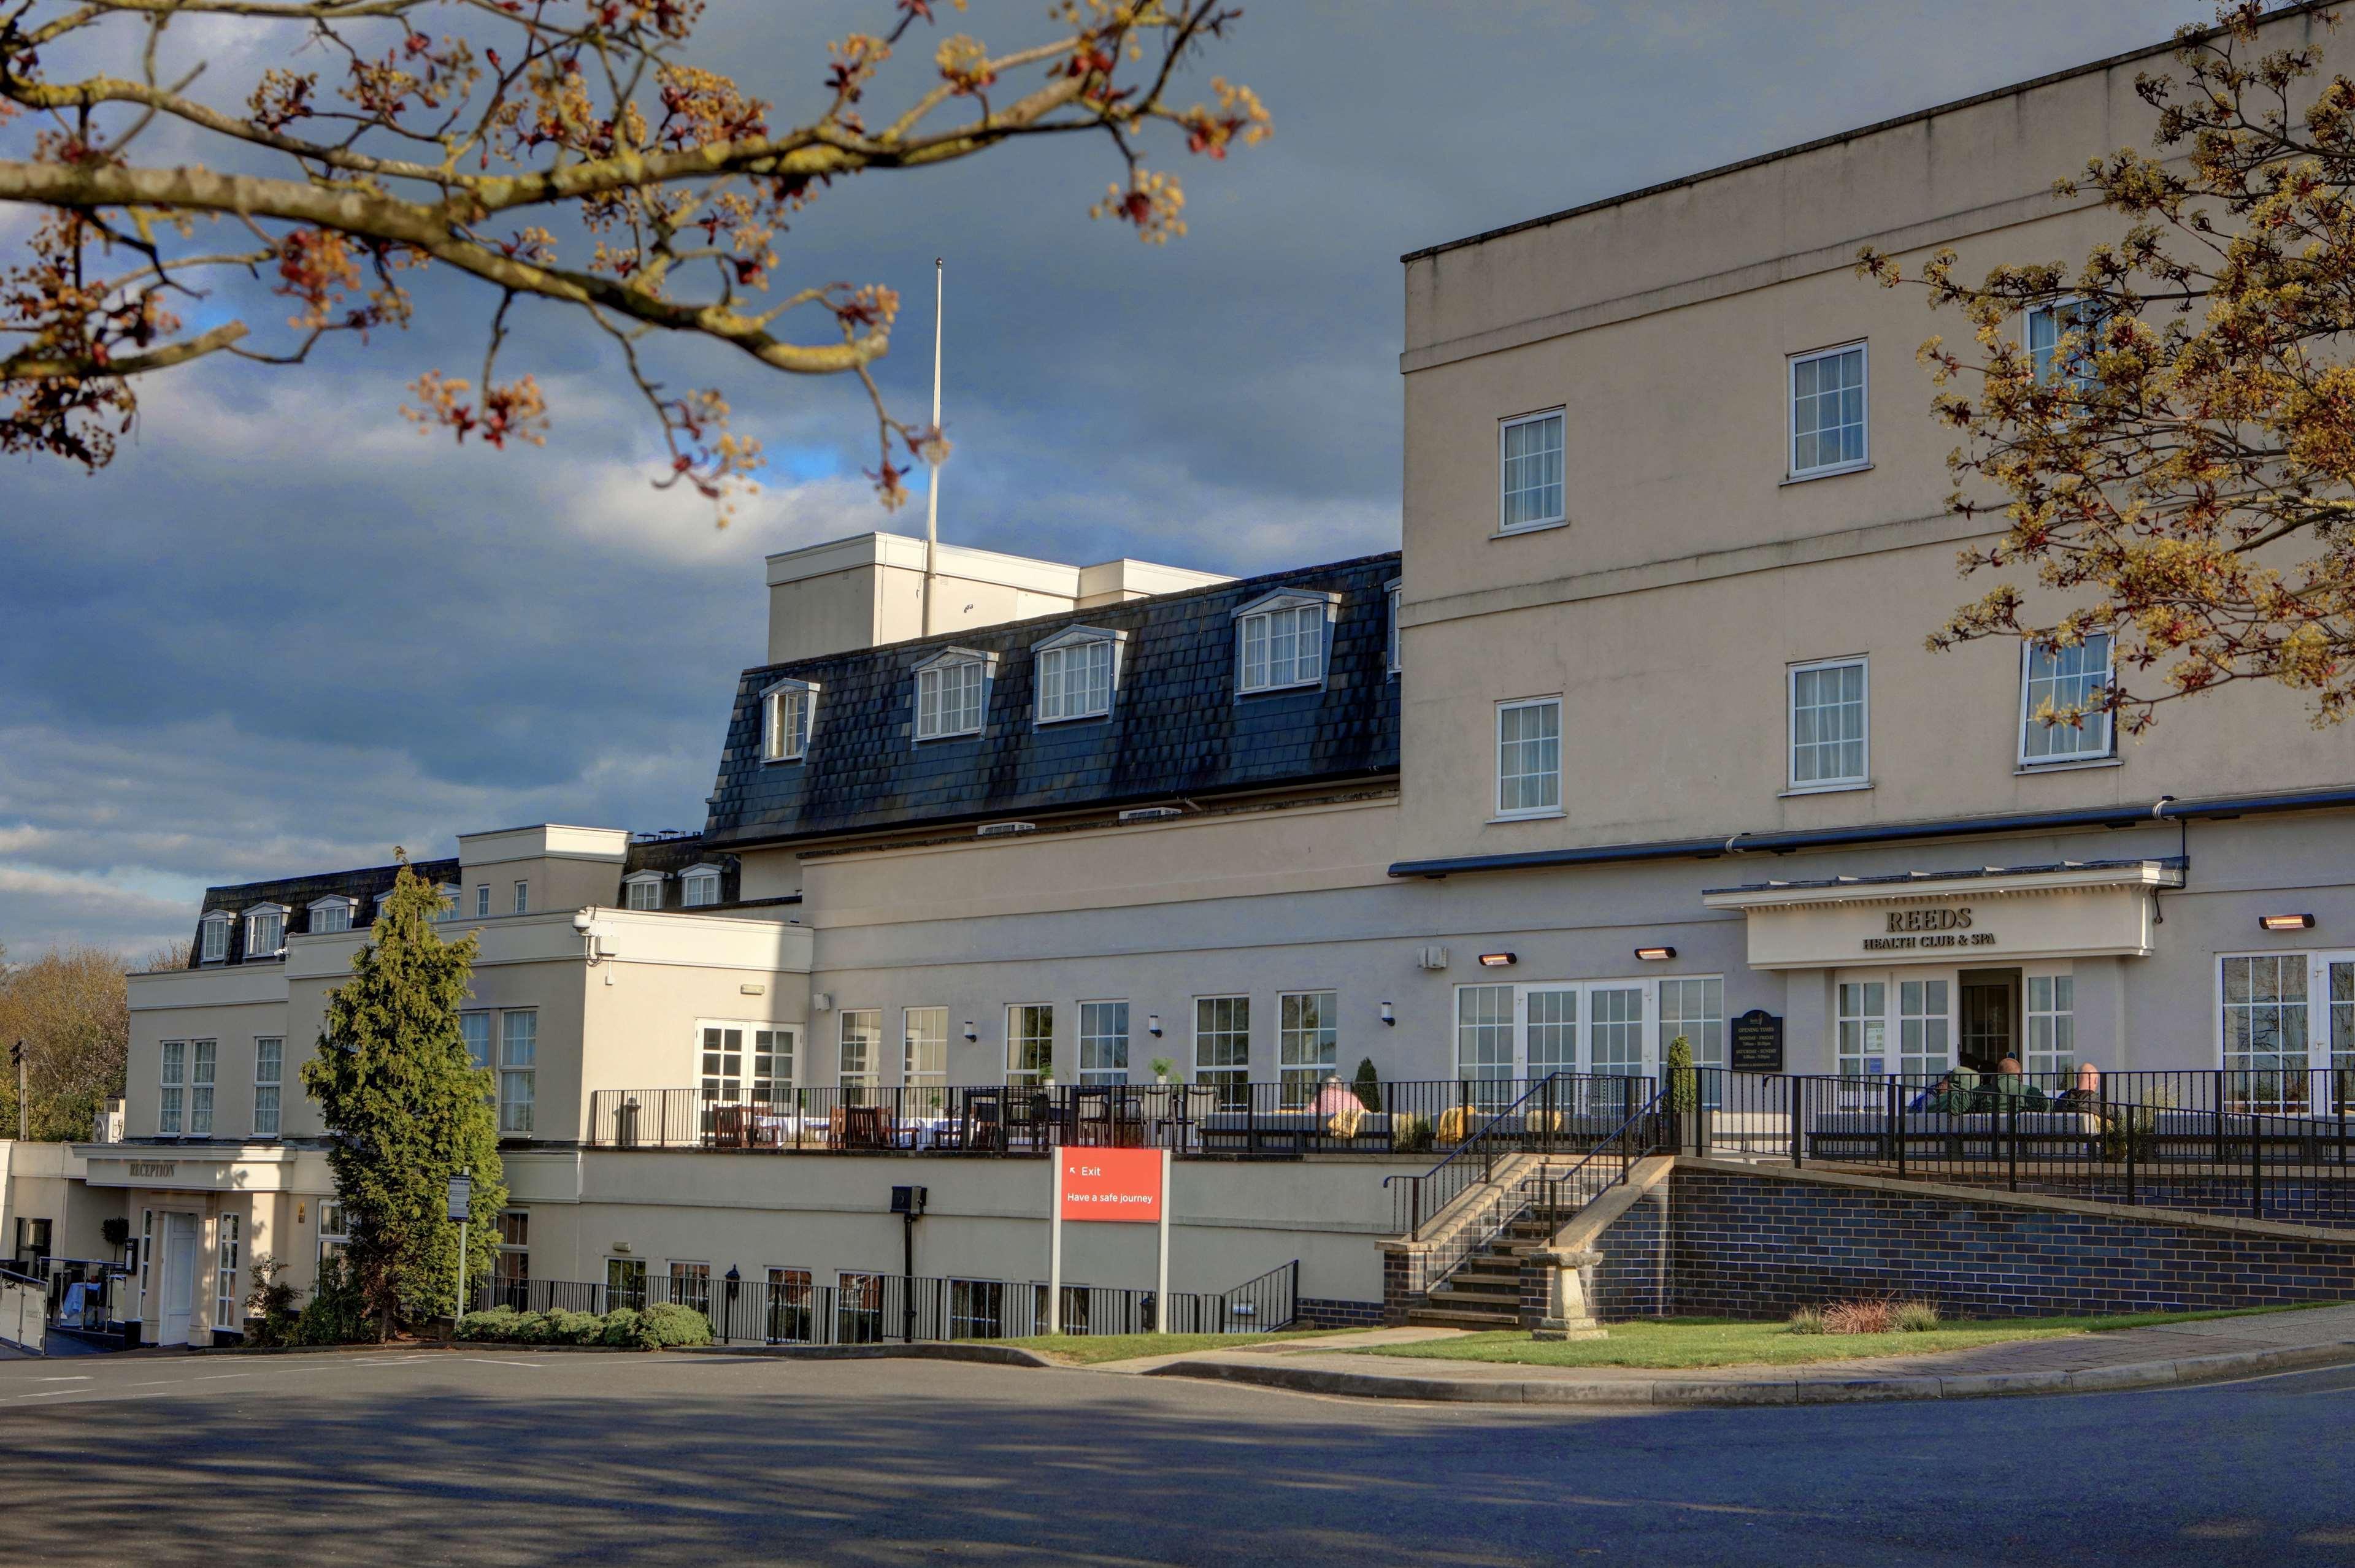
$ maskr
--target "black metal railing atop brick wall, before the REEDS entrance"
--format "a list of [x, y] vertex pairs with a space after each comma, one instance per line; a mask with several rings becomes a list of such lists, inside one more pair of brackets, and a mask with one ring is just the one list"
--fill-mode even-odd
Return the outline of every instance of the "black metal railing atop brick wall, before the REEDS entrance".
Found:
[[2355, 1227], [2355, 1069], [1698, 1074], [1700, 1154]]

